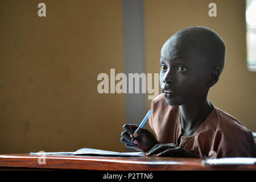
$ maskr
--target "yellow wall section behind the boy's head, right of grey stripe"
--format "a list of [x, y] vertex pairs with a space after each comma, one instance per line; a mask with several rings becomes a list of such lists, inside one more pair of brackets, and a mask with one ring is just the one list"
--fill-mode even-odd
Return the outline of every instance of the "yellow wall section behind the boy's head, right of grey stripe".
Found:
[[[208, 16], [211, 2], [217, 5], [217, 17]], [[246, 68], [245, 1], [144, 0], [144, 21], [148, 73], [159, 72], [160, 49], [180, 29], [206, 26], [220, 34], [226, 43], [226, 64], [208, 98], [256, 131], [256, 72]]]

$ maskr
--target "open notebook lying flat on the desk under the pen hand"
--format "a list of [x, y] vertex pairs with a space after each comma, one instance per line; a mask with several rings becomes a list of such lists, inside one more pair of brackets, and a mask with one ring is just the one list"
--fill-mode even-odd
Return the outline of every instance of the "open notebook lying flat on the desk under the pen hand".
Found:
[[103, 155], [103, 156], [143, 156], [143, 152], [113, 152], [93, 148], [81, 148], [75, 152], [30, 152], [30, 155]]

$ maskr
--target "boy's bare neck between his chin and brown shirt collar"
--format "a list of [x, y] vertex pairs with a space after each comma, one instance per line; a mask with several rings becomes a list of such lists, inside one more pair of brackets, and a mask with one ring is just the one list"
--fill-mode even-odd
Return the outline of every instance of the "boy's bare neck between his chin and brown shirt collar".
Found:
[[197, 98], [197, 100], [179, 106], [183, 134], [189, 137], [195, 133], [213, 109], [214, 106], [208, 101], [207, 94], [200, 99]]

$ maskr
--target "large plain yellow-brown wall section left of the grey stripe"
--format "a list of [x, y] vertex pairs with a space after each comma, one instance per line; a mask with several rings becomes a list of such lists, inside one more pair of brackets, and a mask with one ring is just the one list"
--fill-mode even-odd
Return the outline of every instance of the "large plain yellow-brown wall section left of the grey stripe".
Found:
[[99, 73], [123, 71], [122, 3], [1, 1], [0, 153], [123, 151], [123, 94], [99, 94]]

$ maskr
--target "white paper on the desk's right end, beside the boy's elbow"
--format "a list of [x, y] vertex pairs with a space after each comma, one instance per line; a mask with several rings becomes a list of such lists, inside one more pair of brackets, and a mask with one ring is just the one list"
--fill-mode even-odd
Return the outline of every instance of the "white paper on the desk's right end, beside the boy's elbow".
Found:
[[219, 158], [203, 160], [203, 165], [237, 165], [237, 164], [256, 164], [256, 158]]

